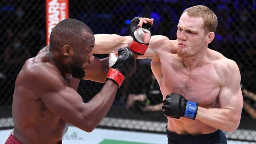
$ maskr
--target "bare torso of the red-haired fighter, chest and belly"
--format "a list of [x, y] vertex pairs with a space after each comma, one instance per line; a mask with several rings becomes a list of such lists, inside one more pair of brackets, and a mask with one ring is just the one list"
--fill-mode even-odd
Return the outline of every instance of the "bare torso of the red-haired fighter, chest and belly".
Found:
[[[175, 43], [175, 41], [172, 41]], [[169, 93], [182, 94], [187, 100], [197, 102], [200, 107], [217, 108], [220, 92], [221, 72], [219, 64], [225, 59], [223, 55], [207, 49], [202, 63], [193, 70], [188, 70], [182, 64], [177, 54], [171, 54], [171, 42], [160, 48], [159, 57], [153, 59], [151, 68], [160, 85], [163, 100]], [[181, 135], [199, 135], [213, 133], [217, 129], [199, 120], [168, 118], [168, 130]]]

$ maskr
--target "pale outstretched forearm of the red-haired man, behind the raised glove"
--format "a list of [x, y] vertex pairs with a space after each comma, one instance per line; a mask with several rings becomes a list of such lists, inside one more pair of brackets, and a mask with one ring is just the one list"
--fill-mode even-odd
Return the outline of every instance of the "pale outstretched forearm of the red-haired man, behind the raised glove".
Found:
[[132, 42], [131, 36], [122, 37], [120, 35], [97, 34], [95, 37], [95, 46], [93, 54], [109, 54], [111, 51], [117, 51], [119, 48], [126, 48]]

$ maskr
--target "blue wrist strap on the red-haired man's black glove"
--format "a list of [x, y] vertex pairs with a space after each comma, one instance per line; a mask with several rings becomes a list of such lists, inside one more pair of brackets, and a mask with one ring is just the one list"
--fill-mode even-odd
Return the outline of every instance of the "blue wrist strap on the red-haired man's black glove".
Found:
[[184, 117], [195, 120], [195, 117], [197, 115], [197, 109], [198, 103], [187, 101]]

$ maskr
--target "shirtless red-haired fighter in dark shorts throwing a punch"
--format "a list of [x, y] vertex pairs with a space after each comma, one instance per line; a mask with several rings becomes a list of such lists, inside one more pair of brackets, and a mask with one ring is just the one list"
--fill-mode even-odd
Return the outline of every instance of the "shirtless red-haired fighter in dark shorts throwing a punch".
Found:
[[[130, 30], [143, 28], [149, 20], [135, 20], [137, 27], [133, 19]], [[133, 48], [134, 41], [148, 37], [146, 31], [142, 31], [142, 38], [135, 31], [130, 31], [132, 37], [95, 35], [93, 53], [109, 53], [133, 41], [130, 49], [141, 55], [138, 58], [152, 59], [152, 72], [164, 100], [162, 110], [168, 119], [168, 144], [226, 144], [223, 131], [237, 129], [243, 107], [239, 68], [208, 48], [217, 27], [217, 17], [208, 7], [187, 8], [177, 27], [177, 40], [155, 35], [148, 49], [141, 42], [137, 44], [142, 46]]]

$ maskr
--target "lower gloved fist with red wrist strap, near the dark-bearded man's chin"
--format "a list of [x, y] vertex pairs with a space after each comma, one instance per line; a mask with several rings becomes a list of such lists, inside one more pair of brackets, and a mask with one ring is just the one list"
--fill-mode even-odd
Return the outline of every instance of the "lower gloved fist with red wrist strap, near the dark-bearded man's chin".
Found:
[[109, 54], [109, 67], [107, 79], [112, 79], [121, 87], [124, 78], [136, 71], [136, 60], [130, 50], [120, 48], [117, 59], [115, 54]]

